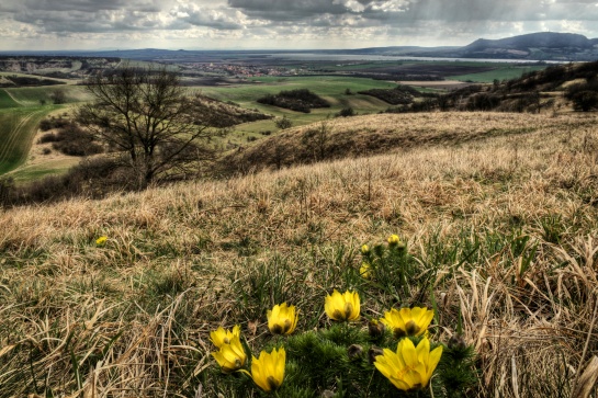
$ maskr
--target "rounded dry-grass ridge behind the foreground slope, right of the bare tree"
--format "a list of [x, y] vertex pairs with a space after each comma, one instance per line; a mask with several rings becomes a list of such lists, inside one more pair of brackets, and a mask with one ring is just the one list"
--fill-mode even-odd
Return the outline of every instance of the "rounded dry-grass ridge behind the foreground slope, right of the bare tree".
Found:
[[571, 128], [576, 117], [435, 112], [362, 115], [291, 128], [239, 148], [219, 162], [222, 173], [280, 169], [321, 160], [353, 158], [432, 146], [456, 146], [494, 136]]

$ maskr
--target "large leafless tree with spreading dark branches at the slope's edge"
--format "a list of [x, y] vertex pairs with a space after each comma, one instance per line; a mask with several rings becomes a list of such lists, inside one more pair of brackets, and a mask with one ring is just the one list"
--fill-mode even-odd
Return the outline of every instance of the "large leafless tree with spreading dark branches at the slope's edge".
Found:
[[217, 132], [195, 123], [176, 73], [126, 65], [109, 76], [91, 77], [87, 90], [94, 101], [79, 109], [77, 121], [126, 153], [140, 186], [213, 160], [210, 140]]

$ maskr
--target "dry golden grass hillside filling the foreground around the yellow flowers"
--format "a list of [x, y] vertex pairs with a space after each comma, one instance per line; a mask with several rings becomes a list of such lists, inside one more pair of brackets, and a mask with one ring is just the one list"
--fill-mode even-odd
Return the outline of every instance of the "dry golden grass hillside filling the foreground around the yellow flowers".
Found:
[[[357, 289], [364, 317], [436, 306], [430, 338], [462, 329], [478, 355], [467, 397], [569, 396], [598, 355], [596, 115], [369, 117], [351, 120], [361, 141], [411, 144], [0, 213], [0, 397], [255, 397], [221, 374], [210, 331], [240, 325], [257, 355], [267, 309], [321, 329], [332, 288]], [[358, 271], [391, 234], [413, 257], [400, 288]]]

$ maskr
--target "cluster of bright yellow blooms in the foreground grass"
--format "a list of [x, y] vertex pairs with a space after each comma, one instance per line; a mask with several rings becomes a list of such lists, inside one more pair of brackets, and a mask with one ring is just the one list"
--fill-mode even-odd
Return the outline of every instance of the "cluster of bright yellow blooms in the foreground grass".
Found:
[[[392, 238], [392, 239], [391, 239]], [[395, 239], [391, 237], [388, 241]], [[397, 238], [398, 239], [398, 238]], [[362, 253], [368, 247], [361, 248]], [[361, 299], [358, 292], [337, 289], [324, 299], [324, 310], [331, 321], [351, 322], [360, 319]], [[297, 326], [298, 310], [286, 303], [275, 305], [267, 311], [268, 329], [272, 334], [287, 337]], [[368, 331], [376, 338], [391, 331], [398, 340], [396, 351], [390, 349], [372, 349], [373, 366], [384, 375], [396, 388], [409, 391], [419, 390], [428, 386], [442, 355], [442, 346], [430, 350], [428, 327], [433, 319], [433, 311], [425, 307], [392, 308], [381, 319], [372, 319]], [[218, 328], [211, 333], [211, 341], [218, 349], [212, 353], [224, 373], [240, 372], [251, 377], [253, 383], [263, 391], [277, 391], [284, 380], [286, 367], [286, 351], [284, 348], [273, 349], [271, 352], [261, 351], [259, 357], [251, 355], [250, 372], [245, 369], [247, 354], [241, 344], [240, 327], [232, 330]], [[409, 338], [420, 338], [414, 344]], [[416, 340], [417, 341], [417, 340]], [[356, 345], [356, 344], [353, 344]], [[352, 345], [352, 346], [353, 346]], [[361, 346], [356, 345], [354, 353], [348, 351], [349, 356], [360, 355]]]

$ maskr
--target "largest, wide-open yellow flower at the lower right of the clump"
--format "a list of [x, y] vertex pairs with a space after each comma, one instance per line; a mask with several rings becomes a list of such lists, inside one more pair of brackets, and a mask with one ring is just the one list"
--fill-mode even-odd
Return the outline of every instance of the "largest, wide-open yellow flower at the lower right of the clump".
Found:
[[384, 349], [383, 354], [375, 357], [374, 366], [396, 388], [408, 391], [426, 388], [441, 355], [442, 346], [430, 352], [428, 338], [424, 338], [417, 349], [409, 339], [403, 339], [396, 353]]

